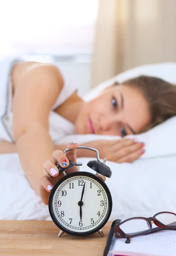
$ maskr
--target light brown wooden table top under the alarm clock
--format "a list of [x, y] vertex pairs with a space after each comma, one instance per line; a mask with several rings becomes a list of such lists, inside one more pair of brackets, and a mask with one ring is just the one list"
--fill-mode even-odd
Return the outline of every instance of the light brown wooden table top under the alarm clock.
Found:
[[112, 222], [86, 237], [63, 234], [53, 221], [0, 221], [1, 256], [103, 256]]

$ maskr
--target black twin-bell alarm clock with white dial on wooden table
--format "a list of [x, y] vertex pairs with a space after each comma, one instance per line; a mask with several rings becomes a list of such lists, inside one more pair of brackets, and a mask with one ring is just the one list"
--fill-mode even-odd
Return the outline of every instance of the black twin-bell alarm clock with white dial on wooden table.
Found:
[[[57, 163], [59, 173], [64, 177], [53, 186], [48, 208], [52, 220], [60, 228], [58, 237], [68, 233], [73, 236], [87, 236], [98, 232], [104, 236], [101, 228], [108, 221], [112, 211], [111, 192], [105, 182], [98, 177], [102, 174], [111, 177], [111, 169], [105, 164], [106, 159], [99, 159], [99, 152], [95, 148], [79, 146], [95, 151], [97, 160], [90, 160], [87, 166], [95, 173], [79, 171], [82, 163], [69, 161], [69, 166], [62, 168]], [[66, 148], [64, 153], [73, 150]], [[66, 174], [65, 170], [72, 166], [78, 166], [78, 172]]]

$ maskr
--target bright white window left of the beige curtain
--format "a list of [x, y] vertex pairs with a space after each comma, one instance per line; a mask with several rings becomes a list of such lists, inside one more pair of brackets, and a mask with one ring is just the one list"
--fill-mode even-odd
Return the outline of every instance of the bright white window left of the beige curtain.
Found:
[[91, 54], [98, 0], [4, 0], [0, 55]]

